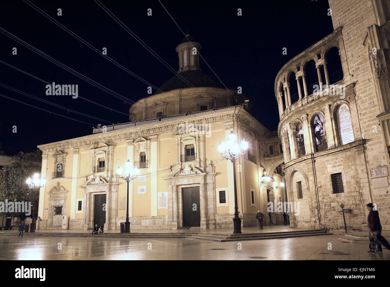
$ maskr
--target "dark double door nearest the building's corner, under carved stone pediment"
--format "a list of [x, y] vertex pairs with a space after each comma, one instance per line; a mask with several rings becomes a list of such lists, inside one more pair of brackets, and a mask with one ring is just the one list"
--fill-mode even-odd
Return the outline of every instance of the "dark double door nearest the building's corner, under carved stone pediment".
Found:
[[183, 187], [183, 227], [200, 226], [199, 186]]

